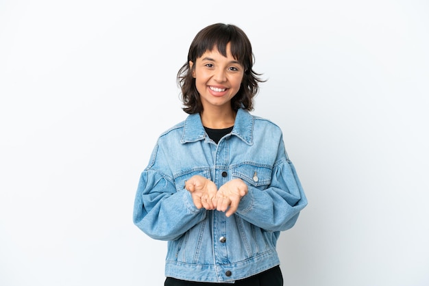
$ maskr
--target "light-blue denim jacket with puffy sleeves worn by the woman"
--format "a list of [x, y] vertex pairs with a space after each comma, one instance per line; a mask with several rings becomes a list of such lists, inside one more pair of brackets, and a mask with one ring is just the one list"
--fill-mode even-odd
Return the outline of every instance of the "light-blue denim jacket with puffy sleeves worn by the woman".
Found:
[[[199, 174], [217, 187], [240, 178], [248, 185], [234, 215], [197, 209], [184, 183]], [[165, 275], [187, 281], [233, 283], [279, 265], [275, 244], [307, 205], [282, 131], [239, 109], [232, 132], [216, 144], [199, 114], [160, 135], [140, 176], [134, 224], [168, 241]]]

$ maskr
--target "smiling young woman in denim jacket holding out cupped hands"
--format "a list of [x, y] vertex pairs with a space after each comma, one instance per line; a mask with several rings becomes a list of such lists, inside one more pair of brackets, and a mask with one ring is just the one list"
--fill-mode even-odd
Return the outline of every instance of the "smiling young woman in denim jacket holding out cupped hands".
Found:
[[158, 138], [134, 224], [168, 241], [164, 285], [283, 285], [275, 249], [307, 200], [282, 131], [249, 114], [259, 74], [235, 25], [195, 36], [177, 81], [188, 118]]

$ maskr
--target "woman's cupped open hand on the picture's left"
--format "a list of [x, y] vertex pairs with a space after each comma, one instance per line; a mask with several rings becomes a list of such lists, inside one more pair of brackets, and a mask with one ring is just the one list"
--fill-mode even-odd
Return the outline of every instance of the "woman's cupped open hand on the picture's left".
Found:
[[202, 176], [195, 175], [185, 183], [185, 188], [191, 192], [192, 200], [197, 209], [215, 209], [213, 198], [217, 193], [215, 183]]

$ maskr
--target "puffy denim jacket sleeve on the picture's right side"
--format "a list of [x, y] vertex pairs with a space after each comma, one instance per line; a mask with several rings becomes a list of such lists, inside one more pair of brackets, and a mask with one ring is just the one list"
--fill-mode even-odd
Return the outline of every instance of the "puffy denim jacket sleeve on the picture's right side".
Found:
[[236, 214], [267, 231], [290, 229], [307, 205], [307, 198], [280, 140], [271, 183], [265, 190], [248, 185], [249, 192], [241, 199]]

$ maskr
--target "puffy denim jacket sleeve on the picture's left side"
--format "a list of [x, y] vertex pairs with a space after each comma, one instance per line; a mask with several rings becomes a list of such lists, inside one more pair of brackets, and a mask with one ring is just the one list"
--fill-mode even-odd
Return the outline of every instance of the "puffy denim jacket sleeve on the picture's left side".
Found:
[[[157, 148], [152, 160], [157, 159], [156, 152]], [[187, 190], [177, 191], [169, 176], [151, 169], [150, 165], [141, 173], [133, 222], [149, 237], [175, 240], [205, 217], [206, 211], [195, 207]]]

